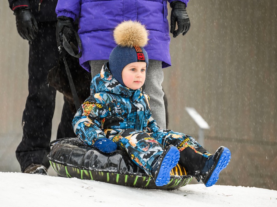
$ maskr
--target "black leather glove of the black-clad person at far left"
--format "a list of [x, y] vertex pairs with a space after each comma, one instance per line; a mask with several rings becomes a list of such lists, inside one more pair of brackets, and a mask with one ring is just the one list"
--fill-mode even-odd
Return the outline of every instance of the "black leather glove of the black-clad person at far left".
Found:
[[17, 32], [23, 39], [34, 41], [35, 31], [38, 32], [38, 22], [35, 20], [31, 9], [24, 8], [14, 12]]

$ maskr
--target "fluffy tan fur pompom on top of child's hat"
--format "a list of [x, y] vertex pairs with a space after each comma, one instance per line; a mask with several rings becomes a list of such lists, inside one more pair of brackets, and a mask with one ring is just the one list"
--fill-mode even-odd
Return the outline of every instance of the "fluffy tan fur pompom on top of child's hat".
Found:
[[115, 42], [121, 47], [144, 47], [148, 41], [148, 31], [140, 22], [124, 21], [113, 32]]

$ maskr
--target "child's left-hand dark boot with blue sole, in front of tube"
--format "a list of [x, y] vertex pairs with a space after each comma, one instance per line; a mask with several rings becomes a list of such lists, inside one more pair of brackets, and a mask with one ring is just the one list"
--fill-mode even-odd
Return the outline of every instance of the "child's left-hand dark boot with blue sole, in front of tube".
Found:
[[179, 161], [179, 150], [173, 145], [169, 145], [164, 152], [154, 160], [151, 165], [151, 175], [157, 186], [163, 186], [170, 181], [170, 171]]

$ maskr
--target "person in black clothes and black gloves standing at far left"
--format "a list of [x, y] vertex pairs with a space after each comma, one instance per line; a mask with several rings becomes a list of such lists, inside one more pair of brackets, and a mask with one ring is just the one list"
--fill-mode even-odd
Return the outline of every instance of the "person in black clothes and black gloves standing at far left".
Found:
[[[8, 0], [16, 17], [19, 35], [29, 41], [29, 95], [22, 117], [23, 137], [16, 158], [24, 173], [47, 174], [56, 90], [47, 83], [48, 71], [57, 66], [57, 0]], [[75, 112], [64, 98], [57, 139], [76, 137], [72, 129]]]

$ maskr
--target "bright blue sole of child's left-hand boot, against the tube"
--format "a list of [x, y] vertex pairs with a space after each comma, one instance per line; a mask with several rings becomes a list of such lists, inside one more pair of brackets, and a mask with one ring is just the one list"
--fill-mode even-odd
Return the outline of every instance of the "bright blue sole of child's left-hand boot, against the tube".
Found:
[[176, 147], [171, 147], [161, 161], [159, 173], [155, 181], [157, 186], [164, 186], [169, 183], [170, 171], [177, 165], [179, 158], [179, 150]]

